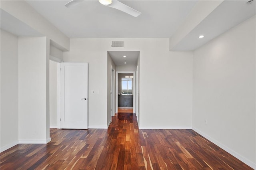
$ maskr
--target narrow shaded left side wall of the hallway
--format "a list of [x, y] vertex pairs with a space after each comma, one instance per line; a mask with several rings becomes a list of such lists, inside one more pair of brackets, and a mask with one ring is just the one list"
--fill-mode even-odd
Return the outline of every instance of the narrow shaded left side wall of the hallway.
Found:
[[[108, 97], [108, 99], [107, 99], [107, 103], [108, 103], [108, 105], [107, 105], [107, 125], [109, 126], [110, 125], [110, 123], [111, 123], [111, 93], [110, 93], [110, 91], [111, 91], [111, 74], [112, 74], [112, 69], [116, 69], [116, 65], [115, 65], [115, 63], [114, 63], [114, 61], [112, 60], [112, 58], [110, 57], [110, 55], [109, 54], [107, 54], [108, 55], [108, 71], [107, 71], [107, 77], [108, 77], [108, 87], [107, 87], [107, 93], [108, 93], [108, 95], [107, 95], [107, 97]], [[111, 69], [111, 66], [112, 66], [112, 69]], [[114, 79], [114, 77], [113, 77], [113, 79]], [[112, 85], [114, 85], [114, 84], [112, 84]], [[114, 91], [113, 91], [113, 93], [115, 93]], [[113, 108], [114, 109], [114, 108]]]

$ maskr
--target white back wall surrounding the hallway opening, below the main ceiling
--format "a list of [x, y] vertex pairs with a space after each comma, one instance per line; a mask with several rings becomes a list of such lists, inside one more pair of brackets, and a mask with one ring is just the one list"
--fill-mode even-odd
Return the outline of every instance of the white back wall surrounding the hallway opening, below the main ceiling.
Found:
[[107, 127], [107, 51], [113, 50], [140, 51], [140, 128], [191, 128], [192, 52], [170, 52], [169, 39], [122, 39], [122, 49], [110, 41], [71, 39], [63, 53], [65, 62], [89, 63], [89, 128]]

